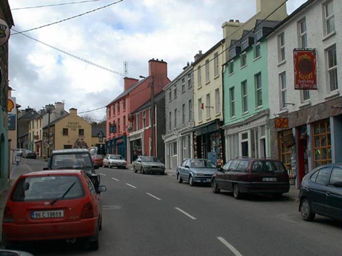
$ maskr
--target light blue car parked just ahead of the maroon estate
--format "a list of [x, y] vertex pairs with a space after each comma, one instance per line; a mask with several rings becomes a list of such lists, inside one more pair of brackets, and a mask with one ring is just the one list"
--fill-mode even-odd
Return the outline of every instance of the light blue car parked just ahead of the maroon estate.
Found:
[[215, 172], [217, 166], [211, 160], [200, 158], [185, 159], [176, 170], [178, 182], [187, 180], [190, 186], [195, 183], [210, 183]]

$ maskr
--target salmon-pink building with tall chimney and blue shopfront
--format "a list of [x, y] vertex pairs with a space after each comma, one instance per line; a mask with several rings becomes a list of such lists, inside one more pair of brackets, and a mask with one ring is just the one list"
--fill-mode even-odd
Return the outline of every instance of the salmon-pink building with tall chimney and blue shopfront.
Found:
[[[167, 77], [167, 63], [165, 61], [150, 59], [149, 76], [140, 81], [138, 79], [125, 78], [124, 92], [107, 105], [107, 153], [121, 155], [128, 160], [128, 163], [131, 162], [131, 156], [133, 156], [134, 151], [138, 152], [139, 149], [139, 146], [137, 146], [139, 141], [131, 143], [132, 141], [129, 140], [128, 143], [134, 122], [134, 119], [131, 119], [134, 116], [129, 114], [150, 100], [152, 77], [154, 94], [157, 95], [170, 82], [170, 79]], [[150, 112], [148, 111], [145, 115], [150, 117]], [[150, 118], [147, 119], [150, 124]], [[133, 149], [130, 147], [131, 145]]]

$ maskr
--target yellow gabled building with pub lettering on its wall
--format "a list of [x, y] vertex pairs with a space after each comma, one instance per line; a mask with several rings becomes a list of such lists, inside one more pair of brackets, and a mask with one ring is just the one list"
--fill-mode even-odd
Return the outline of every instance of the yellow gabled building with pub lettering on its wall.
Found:
[[[48, 138], [50, 133], [50, 138]], [[50, 146], [48, 146], [50, 145]], [[52, 150], [86, 148], [91, 146], [91, 125], [77, 115], [77, 109], [43, 127], [43, 156], [49, 157]]]

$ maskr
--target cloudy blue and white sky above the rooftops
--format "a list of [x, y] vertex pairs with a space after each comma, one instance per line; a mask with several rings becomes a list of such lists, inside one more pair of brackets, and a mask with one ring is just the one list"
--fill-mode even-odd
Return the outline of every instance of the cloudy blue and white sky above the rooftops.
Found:
[[[17, 10], [14, 9], [82, 0], [8, 1], [13, 29], [17, 31], [114, 3], [24, 33], [62, 52], [15, 35], [13, 30], [9, 39], [9, 84], [21, 109], [30, 106], [39, 110], [46, 104], [64, 101], [66, 111], [77, 108], [80, 116], [87, 115], [98, 122], [106, 115], [106, 108], [101, 107], [123, 92], [124, 62], [127, 76], [139, 78], [148, 76], [150, 59], [163, 59], [172, 80], [188, 61], [194, 61], [199, 50], [206, 52], [222, 39], [223, 22], [244, 22], [256, 13], [256, 0], [93, 0]], [[305, 1], [288, 0], [288, 14]], [[111, 72], [86, 63], [89, 61]], [[90, 111], [94, 109], [98, 110]], [[90, 112], [82, 114], [86, 111]]]

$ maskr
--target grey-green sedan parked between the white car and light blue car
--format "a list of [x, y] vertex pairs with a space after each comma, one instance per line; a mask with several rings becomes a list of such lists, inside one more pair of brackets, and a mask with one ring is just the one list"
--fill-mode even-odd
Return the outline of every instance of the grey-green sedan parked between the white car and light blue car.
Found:
[[165, 165], [156, 157], [138, 157], [133, 162], [133, 171], [136, 173], [159, 173], [165, 174]]

